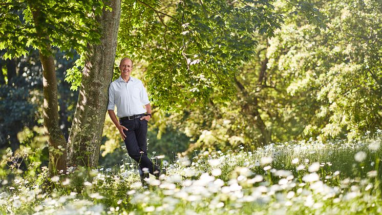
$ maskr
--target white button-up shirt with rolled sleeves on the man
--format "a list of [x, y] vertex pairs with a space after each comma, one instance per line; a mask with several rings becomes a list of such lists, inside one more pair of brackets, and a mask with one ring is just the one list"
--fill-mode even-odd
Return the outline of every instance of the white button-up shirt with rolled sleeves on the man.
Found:
[[117, 116], [132, 116], [146, 112], [144, 105], [150, 103], [141, 80], [130, 77], [126, 83], [121, 76], [110, 84], [108, 110], [117, 106]]

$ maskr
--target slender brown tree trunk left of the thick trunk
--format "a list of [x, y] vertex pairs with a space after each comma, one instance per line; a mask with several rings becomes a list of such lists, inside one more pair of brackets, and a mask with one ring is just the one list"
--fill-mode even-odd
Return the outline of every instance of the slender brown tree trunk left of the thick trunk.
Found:
[[[44, 15], [38, 8], [31, 6], [33, 22], [36, 33], [40, 38], [49, 38], [47, 32], [41, 30], [40, 24], [44, 23]], [[56, 174], [59, 170], [66, 170], [66, 140], [59, 128], [57, 76], [54, 58], [49, 43], [44, 44], [39, 50], [41, 65], [43, 66], [43, 91], [44, 91], [44, 128], [48, 136], [49, 146], [49, 171]], [[44, 50], [44, 51], [42, 51]]]

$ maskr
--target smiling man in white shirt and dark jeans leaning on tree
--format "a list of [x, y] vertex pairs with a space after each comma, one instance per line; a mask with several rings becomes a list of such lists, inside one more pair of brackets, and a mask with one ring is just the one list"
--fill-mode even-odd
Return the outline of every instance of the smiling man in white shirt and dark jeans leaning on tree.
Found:
[[[143, 183], [142, 170], [150, 172], [157, 178], [159, 168], [147, 157], [147, 122], [152, 118], [151, 105], [142, 82], [130, 76], [133, 62], [125, 57], [119, 64], [121, 75], [110, 84], [108, 113], [126, 145], [129, 156], [139, 164]], [[117, 106], [117, 117], [114, 113]], [[144, 107], [143, 107], [144, 106]], [[144, 175], [148, 178], [148, 174]]]

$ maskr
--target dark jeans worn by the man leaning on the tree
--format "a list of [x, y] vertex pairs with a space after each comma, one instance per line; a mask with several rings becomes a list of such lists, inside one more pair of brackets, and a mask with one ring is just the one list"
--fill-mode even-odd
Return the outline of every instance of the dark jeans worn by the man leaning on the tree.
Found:
[[[158, 167], [147, 157], [147, 121], [138, 118], [120, 120], [119, 123], [129, 129], [124, 130], [124, 134], [126, 134], [124, 143], [129, 156], [139, 164], [140, 169], [146, 167], [148, 172], [158, 177], [160, 173]], [[145, 177], [148, 178], [148, 174], [145, 174]]]

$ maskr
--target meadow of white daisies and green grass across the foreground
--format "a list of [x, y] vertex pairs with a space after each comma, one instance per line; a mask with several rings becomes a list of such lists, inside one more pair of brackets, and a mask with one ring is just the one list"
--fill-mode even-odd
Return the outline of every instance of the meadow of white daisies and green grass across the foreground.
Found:
[[[360, 140], [291, 141], [169, 161], [142, 187], [136, 164], [47, 177], [33, 152], [3, 155], [3, 214], [381, 214], [382, 131]], [[127, 155], [126, 155], [127, 158]], [[24, 159], [28, 170], [12, 162]], [[157, 158], [158, 159], [158, 158]], [[40, 168], [41, 171], [36, 169]]]

